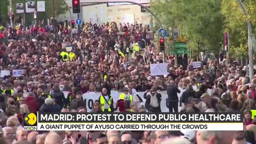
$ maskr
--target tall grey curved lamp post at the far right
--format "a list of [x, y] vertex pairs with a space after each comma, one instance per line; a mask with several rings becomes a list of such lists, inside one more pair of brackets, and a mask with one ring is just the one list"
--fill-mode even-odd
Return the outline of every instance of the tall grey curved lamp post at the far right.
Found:
[[250, 82], [252, 81], [254, 70], [253, 70], [253, 49], [252, 49], [252, 22], [247, 18], [248, 12], [245, 9], [244, 4], [241, 0], [237, 0], [241, 8], [243, 9], [244, 15], [246, 16], [247, 28], [248, 28], [248, 54], [249, 54], [249, 74]]

